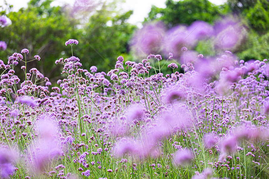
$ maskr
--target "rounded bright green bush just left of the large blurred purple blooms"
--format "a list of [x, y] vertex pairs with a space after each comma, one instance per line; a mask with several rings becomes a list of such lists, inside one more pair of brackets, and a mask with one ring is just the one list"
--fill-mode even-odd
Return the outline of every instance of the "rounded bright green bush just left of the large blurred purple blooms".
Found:
[[128, 41], [136, 26], [126, 22], [133, 11], [116, 12], [114, 4], [103, 7], [79, 30], [82, 35], [78, 51], [85, 69], [97, 66], [98, 71], [114, 67], [117, 57], [128, 52]]

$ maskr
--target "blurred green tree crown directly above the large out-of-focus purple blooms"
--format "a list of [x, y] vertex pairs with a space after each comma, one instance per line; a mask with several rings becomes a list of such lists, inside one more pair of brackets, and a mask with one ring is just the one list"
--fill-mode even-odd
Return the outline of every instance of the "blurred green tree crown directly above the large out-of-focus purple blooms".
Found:
[[167, 0], [165, 5], [166, 8], [152, 6], [146, 21], [161, 20], [168, 27], [180, 23], [190, 25], [196, 20], [213, 23], [229, 11], [227, 6], [215, 6], [208, 0]]

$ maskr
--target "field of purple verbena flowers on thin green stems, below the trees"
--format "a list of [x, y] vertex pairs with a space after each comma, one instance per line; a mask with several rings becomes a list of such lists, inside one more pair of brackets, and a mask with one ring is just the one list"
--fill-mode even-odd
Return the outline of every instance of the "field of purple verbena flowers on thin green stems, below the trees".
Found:
[[[73, 54], [79, 42], [65, 45]], [[97, 72], [72, 56], [55, 61], [64, 79], [52, 86], [38, 69], [26, 71], [43, 60], [28, 52], [0, 61], [0, 177], [269, 177], [267, 59], [119, 56], [115, 68]], [[171, 74], [162, 73], [164, 60]]]

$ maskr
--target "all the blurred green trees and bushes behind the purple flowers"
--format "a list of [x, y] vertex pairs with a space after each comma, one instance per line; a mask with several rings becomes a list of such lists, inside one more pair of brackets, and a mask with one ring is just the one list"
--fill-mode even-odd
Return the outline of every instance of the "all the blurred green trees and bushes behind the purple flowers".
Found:
[[[41, 57], [40, 62], [28, 63], [27, 70], [36, 67], [55, 82], [61, 78], [61, 66], [55, 65], [55, 60], [71, 56], [70, 46], [64, 45], [68, 39], [79, 41], [79, 45], [73, 48], [74, 56], [79, 57], [84, 69], [89, 70], [95, 65], [99, 72], [108, 72], [114, 68], [119, 55], [125, 61], [143, 59], [130, 48], [131, 39], [139, 28], [126, 21], [132, 11], [117, 9], [121, 2], [100, 3], [91, 12], [77, 13], [77, 18], [72, 15], [72, 9], [52, 7], [51, 2], [31, 0], [27, 8], [18, 12], [13, 12], [8, 4], [1, 7], [0, 15], [6, 15], [12, 22], [7, 27], [0, 27], [0, 40], [8, 45], [5, 51], [0, 51], [1, 60], [7, 63], [10, 55], [27, 48], [30, 51], [28, 60], [34, 59], [34, 55]], [[269, 57], [269, 3], [266, 0], [228, 0], [219, 6], [208, 0], [167, 0], [165, 4], [165, 8], [152, 6], [143, 25], [162, 21], [167, 30], [178, 24], [190, 25], [197, 20], [214, 25], [223, 16], [232, 14], [241, 19], [247, 30], [244, 42], [233, 49], [233, 53], [243, 60]], [[210, 39], [199, 41], [193, 49], [204, 56], [216, 55]], [[168, 54], [161, 55], [165, 58]], [[168, 63], [163, 60], [161, 66]], [[22, 65], [17, 66], [17, 71], [22, 71]]]

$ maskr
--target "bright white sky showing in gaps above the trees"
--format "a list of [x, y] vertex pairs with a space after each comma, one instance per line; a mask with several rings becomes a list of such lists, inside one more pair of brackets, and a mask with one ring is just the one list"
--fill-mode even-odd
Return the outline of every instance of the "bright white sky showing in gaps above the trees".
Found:
[[[8, 0], [9, 4], [13, 5], [13, 10], [18, 11], [21, 7], [27, 7], [29, 0]], [[75, 0], [55, 0], [52, 5], [63, 5], [65, 3], [73, 4]], [[125, 0], [126, 2], [122, 7], [128, 10], [134, 10], [133, 15], [130, 17], [129, 22], [141, 26], [140, 22], [144, 21], [144, 18], [150, 12], [151, 5], [164, 8], [166, 0]], [[220, 5], [226, 2], [226, 0], [209, 0], [210, 2]], [[0, 5], [3, 5], [3, 1], [0, 0]]]

